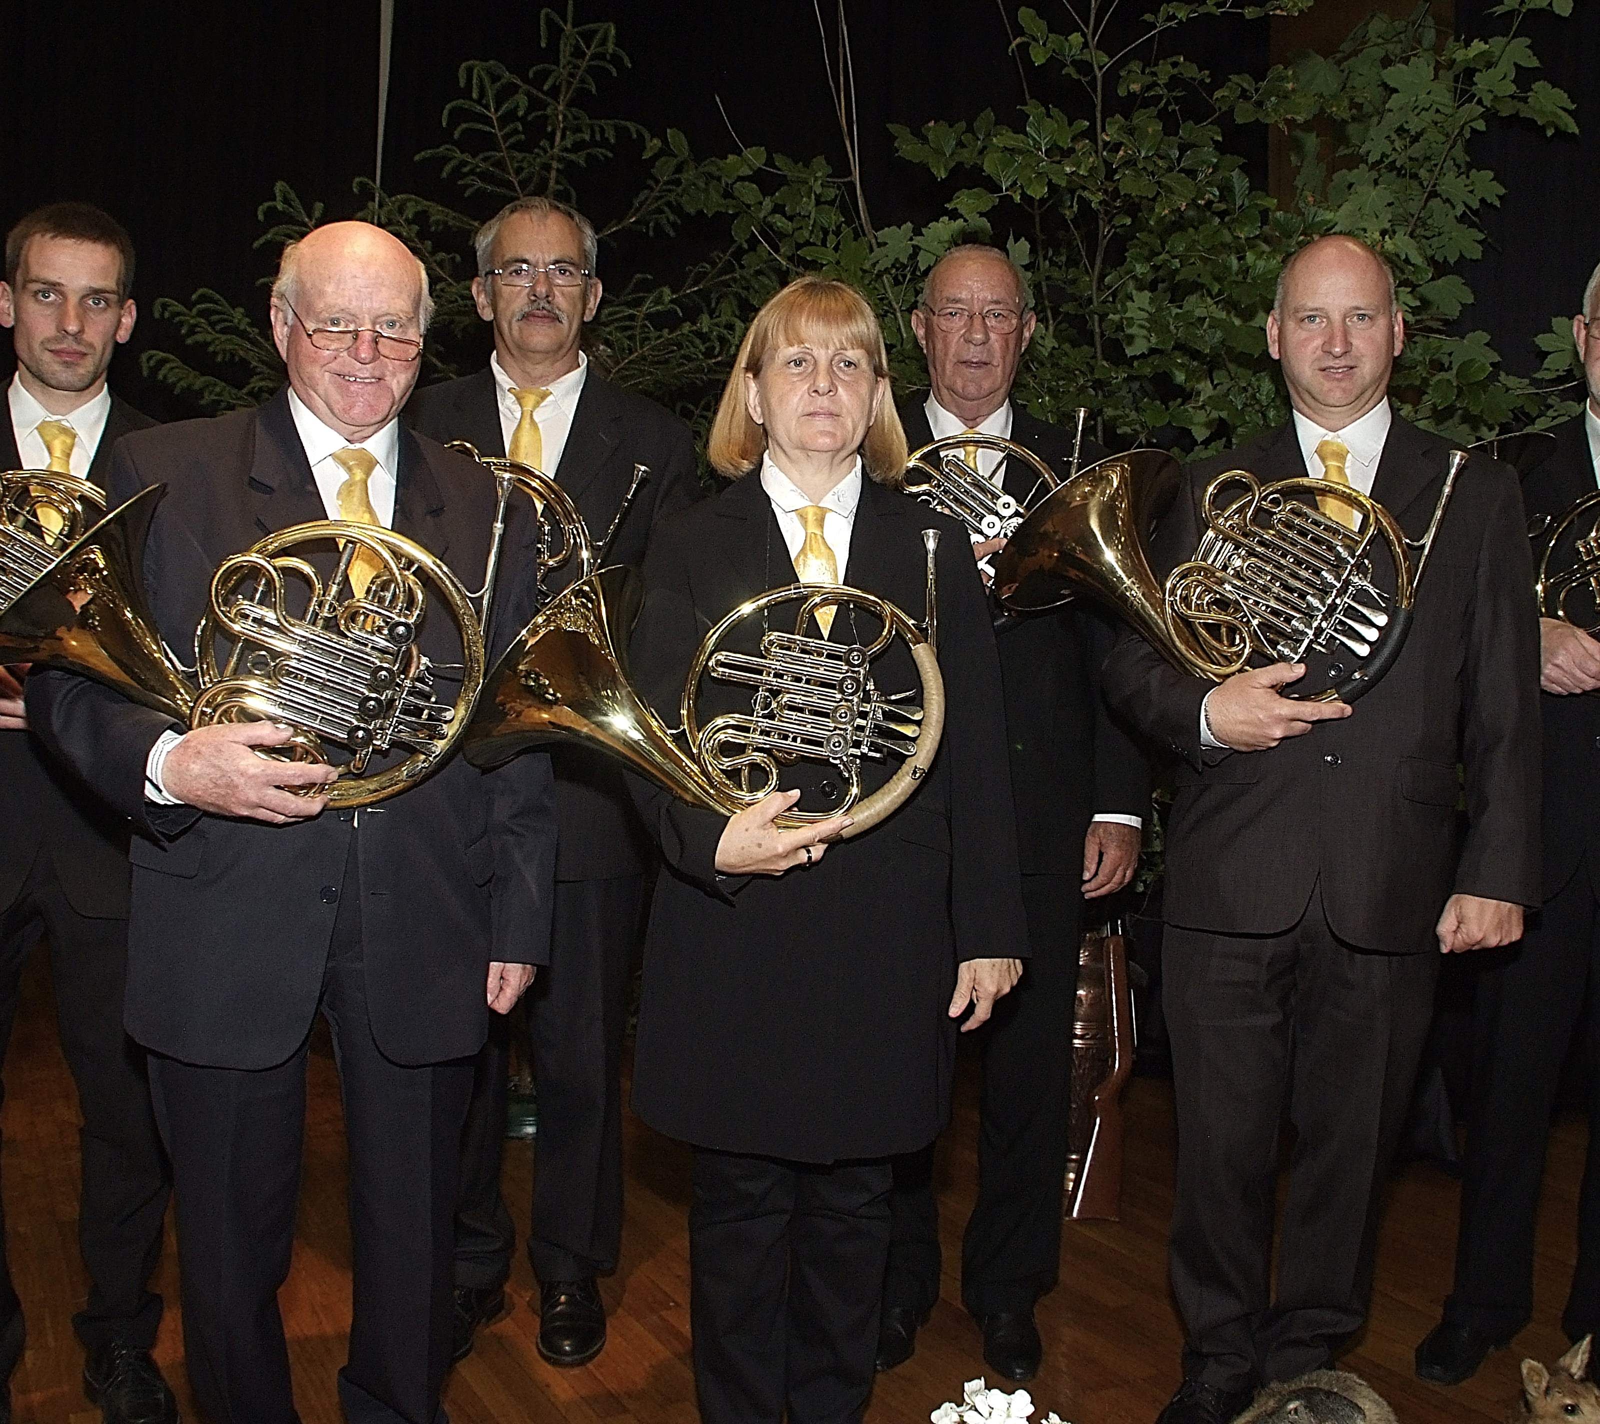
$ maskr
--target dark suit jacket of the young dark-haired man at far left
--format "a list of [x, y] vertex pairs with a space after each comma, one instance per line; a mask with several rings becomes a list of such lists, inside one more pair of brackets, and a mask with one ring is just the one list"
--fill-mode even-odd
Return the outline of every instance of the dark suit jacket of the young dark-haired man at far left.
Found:
[[[123, 435], [154, 424], [114, 395], [90, 461], [90, 483], [104, 490], [112, 446]], [[19, 467], [11, 418], [0, 413], [0, 470]], [[123, 918], [128, 914], [128, 822], [29, 731], [0, 731], [0, 784], [6, 802], [0, 814], [0, 906], [16, 899], [34, 856], [43, 850], [72, 909], [96, 920]]]

